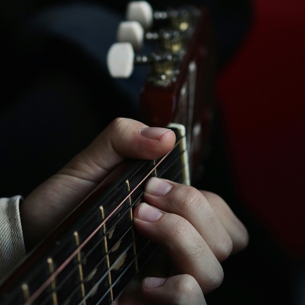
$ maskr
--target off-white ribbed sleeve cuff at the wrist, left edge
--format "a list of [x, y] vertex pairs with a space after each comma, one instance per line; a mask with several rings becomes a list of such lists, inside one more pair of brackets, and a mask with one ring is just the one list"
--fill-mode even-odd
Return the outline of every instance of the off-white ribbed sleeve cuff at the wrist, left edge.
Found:
[[0, 282], [24, 257], [19, 214], [21, 196], [0, 198]]

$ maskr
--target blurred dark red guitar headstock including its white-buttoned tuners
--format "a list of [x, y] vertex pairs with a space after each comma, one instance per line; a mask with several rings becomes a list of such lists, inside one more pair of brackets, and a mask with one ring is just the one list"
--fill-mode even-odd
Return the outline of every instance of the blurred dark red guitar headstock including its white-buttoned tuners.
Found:
[[[191, 6], [154, 12], [140, 1], [128, 6], [127, 17], [118, 28], [119, 43], [113, 46], [121, 51], [109, 51], [109, 70], [118, 67], [121, 73], [115, 75], [124, 77], [124, 66], [132, 67], [130, 74], [138, 64], [151, 66], [141, 92], [140, 117], [150, 126], [186, 127], [194, 177], [212, 119], [215, 60], [208, 13]], [[139, 53], [144, 43], [152, 42], [154, 52]], [[117, 64], [127, 56], [126, 45], [137, 52], [128, 56], [128, 64]]]

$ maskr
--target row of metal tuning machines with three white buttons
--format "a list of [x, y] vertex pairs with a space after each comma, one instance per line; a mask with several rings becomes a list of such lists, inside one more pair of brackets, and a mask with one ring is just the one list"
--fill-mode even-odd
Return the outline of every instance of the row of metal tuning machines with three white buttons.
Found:
[[[157, 86], [176, 82], [200, 14], [201, 11], [193, 7], [153, 12], [145, 1], [129, 3], [126, 13], [128, 21], [119, 24], [118, 43], [109, 49], [107, 56], [111, 76], [127, 78], [135, 65], [149, 64], [153, 69], [150, 70], [147, 82]], [[168, 26], [148, 30], [154, 21], [160, 19], [168, 19]], [[140, 50], [147, 41], [156, 42], [155, 51], [148, 55], [136, 55], [134, 50]]]

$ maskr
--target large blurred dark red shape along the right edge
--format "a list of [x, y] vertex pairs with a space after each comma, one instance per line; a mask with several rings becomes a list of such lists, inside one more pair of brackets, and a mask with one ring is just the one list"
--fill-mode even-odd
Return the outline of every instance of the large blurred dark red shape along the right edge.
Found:
[[239, 198], [305, 258], [305, 3], [253, 0], [250, 32], [218, 79]]

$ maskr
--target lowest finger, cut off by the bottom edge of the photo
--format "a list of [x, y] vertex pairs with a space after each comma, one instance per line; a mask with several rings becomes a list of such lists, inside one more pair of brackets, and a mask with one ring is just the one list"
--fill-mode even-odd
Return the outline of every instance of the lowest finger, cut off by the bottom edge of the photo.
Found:
[[145, 278], [142, 282], [142, 292], [144, 297], [154, 304], [206, 304], [199, 284], [190, 275], [167, 279]]

